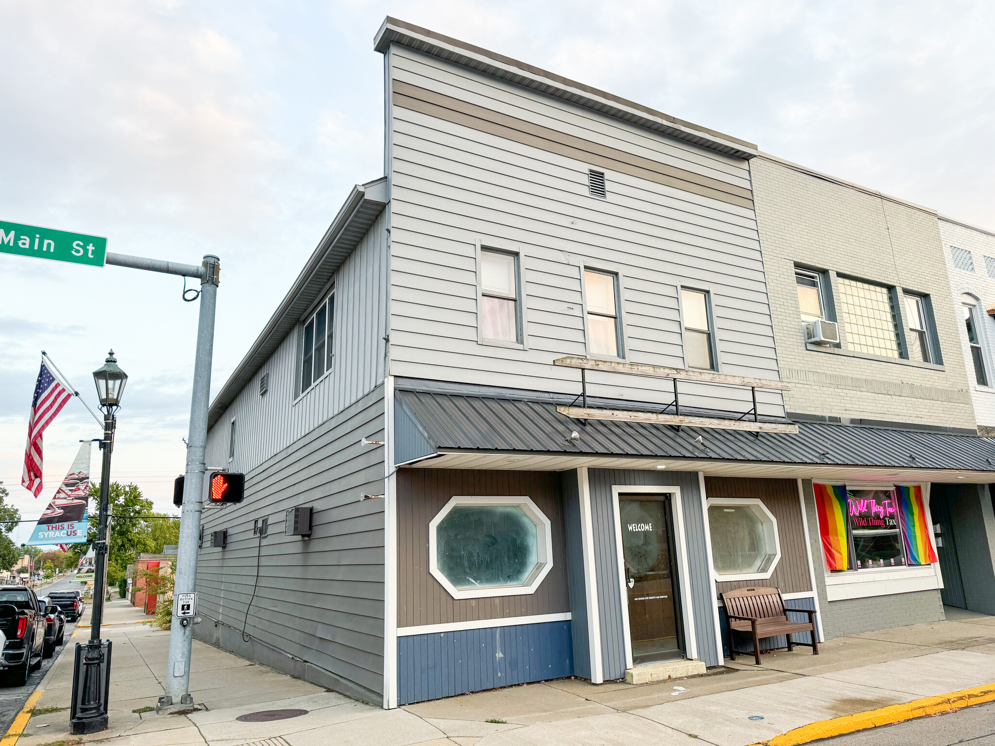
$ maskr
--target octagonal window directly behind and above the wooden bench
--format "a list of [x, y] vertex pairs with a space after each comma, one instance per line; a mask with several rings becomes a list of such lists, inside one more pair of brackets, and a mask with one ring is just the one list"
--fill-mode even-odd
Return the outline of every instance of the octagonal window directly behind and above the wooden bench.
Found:
[[709, 499], [708, 531], [718, 580], [767, 579], [781, 558], [777, 519], [758, 499]]

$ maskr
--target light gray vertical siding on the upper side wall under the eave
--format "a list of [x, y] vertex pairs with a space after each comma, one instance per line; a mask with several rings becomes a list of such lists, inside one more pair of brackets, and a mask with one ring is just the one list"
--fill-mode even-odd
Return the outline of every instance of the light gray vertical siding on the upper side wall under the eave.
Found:
[[[233, 419], [233, 466], [248, 472], [383, 382], [388, 250], [385, 215], [377, 218], [335, 273], [335, 356], [331, 373], [296, 397], [298, 325], [211, 428], [207, 436], [208, 466], [228, 465]], [[269, 374], [269, 391], [260, 396], [259, 382], [264, 374]]]

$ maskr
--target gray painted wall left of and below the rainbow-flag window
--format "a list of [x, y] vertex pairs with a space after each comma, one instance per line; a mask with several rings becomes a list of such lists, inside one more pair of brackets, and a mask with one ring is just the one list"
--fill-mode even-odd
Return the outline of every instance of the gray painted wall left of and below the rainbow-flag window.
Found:
[[939, 622], [943, 619], [943, 602], [938, 590], [828, 601], [821, 564], [819, 518], [811, 479], [802, 480], [802, 491], [805, 494], [809, 541], [812, 542], [812, 561], [816, 563], [815, 585], [819, 594], [819, 608], [822, 610], [822, 632], [826, 640], [892, 627], [907, 627], [920, 622]]

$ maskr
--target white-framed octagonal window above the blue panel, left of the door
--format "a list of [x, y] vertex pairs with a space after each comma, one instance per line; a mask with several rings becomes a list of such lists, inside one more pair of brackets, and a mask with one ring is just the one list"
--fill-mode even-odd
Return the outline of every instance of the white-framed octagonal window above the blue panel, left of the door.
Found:
[[529, 594], [552, 567], [550, 543], [528, 497], [454, 497], [430, 524], [431, 572], [454, 598]]

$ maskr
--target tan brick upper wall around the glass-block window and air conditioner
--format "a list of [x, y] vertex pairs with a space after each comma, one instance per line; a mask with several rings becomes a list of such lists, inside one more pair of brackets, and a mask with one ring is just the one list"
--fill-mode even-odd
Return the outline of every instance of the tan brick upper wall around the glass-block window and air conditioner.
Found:
[[[778, 365], [792, 384], [785, 393], [788, 411], [973, 429], [959, 321], [935, 213], [762, 156], [750, 161], [750, 169]], [[942, 368], [806, 349], [796, 263], [929, 294]], [[839, 317], [836, 281], [833, 296]]]

